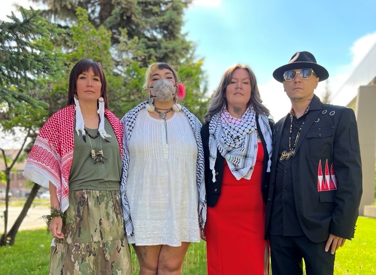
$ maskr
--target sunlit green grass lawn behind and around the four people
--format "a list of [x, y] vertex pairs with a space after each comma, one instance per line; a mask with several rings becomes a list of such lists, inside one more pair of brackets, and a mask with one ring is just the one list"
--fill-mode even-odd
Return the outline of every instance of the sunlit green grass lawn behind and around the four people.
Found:
[[[337, 251], [334, 275], [376, 274], [376, 219], [359, 217], [355, 237]], [[0, 247], [0, 275], [48, 274], [50, 243], [45, 229], [20, 231], [14, 246]], [[131, 251], [133, 274], [137, 274], [137, 259]], [[182, 274], [206, 274], [205, 242], [191, 244]]]

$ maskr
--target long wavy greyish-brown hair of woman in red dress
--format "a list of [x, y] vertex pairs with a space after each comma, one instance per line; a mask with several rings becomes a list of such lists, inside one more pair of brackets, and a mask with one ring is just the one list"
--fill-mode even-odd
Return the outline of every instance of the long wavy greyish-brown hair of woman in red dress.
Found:
[[222, 112], [224, 108], [227, 107], [227, 100], [224, 97], [226, 94], [226, 88], [230, 84], [232, 79], [232, 74], [236, 69], [244, 69], [248, 71], [249, 78], [251, 81], [251, 99], [250, 102], [253, 109], [255, 110], [256, 114], [262, 114], [269, 116], [270, 111], [268, 108], [266, 108], [262, 104], [262, 100], [260, 97], [260, 93], [258, 90], [257, 82], [256, 82], [256, 76], [251, 70], [251, 68], [247, 65], [240, 65], [236, 64], [226, 70], [226, 72], [223, 74], [221, 82], [217, 88], [217, 91], [215, 91], [212, 100], [210, 102], [208, 112], [205, 114], [204, 119], [205, 122], [208, 122], [211, 120], [213, 115], [217, 114], [218, 112]]

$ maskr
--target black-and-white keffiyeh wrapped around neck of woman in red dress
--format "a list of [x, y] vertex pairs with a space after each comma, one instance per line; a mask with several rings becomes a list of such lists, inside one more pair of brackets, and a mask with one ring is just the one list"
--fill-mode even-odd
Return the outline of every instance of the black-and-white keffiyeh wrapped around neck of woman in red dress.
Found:
[[[266, 115], [258, 115], [259, 133], [264, 137], [269, 154], [267, 172], [270, 172], [272, 136]], [[232, 175], [237, 180], [250, 179], [256, 163], [258, 150], [256, 112], [248, 108], [240, 119], [230, 115], [227, 109], [213, 115], [209, 122], [209, 168], [215, 182], [217, 148], [227, 161]]]

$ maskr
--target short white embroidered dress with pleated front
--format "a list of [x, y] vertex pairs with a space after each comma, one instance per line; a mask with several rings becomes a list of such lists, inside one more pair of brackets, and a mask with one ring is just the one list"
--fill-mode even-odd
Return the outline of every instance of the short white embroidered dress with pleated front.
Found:
[[167, 122], [139, 111], [129, 140], [126, 196], [134, 226], [129, 243], [180, 246], [200, 242], [197, 142], [183, 112]]

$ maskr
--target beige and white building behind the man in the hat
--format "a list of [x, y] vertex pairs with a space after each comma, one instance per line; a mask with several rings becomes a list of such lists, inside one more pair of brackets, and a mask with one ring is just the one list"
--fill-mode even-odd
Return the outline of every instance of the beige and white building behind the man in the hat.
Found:
[[[351, 99], [350, 101], [348, 99]], [[358, 123], [362, 158], [363, 195], [359, 215], [374, 216], [375, 156], [376, 156], [376, 44], [355, 68], [349, 79], [331, 98], [336, 105], [352, 108]], [[371, 211], [372, 210], [372, 211]], [[371, 211], [371, 212], [370, 212]]]

